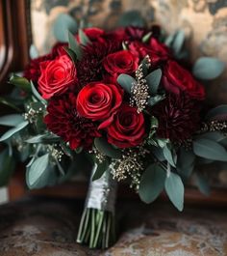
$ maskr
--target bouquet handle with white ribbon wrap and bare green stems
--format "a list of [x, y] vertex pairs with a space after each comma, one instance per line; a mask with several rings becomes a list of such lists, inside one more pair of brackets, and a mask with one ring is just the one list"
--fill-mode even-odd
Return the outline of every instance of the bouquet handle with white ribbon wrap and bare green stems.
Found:
[[95, 164], [88, 187], [85, 209], [82, 214], [77, 242], [89, 248], [108, 248], [115, 242], [115, 197], [117, 184], [108, 169], [103, 176], [92, 181]]

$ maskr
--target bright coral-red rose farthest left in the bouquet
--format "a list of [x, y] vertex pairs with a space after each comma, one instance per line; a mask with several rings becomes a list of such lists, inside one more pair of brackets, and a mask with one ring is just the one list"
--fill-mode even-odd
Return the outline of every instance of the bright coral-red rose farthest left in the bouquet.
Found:
[[43, 99], [65, 93], [76, 82], [76, 69], [67, 55], [40, 63], [38, 90]]

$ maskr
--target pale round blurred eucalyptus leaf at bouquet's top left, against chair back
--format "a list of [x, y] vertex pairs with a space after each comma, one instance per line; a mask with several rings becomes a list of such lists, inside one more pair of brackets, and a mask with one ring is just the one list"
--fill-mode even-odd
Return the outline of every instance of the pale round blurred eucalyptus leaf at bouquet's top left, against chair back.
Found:
[[69, 14], [59, 14], [53, 24], [53, 33], [57, 41], [67, 42], [67, 31], [77, 32], [77, 22]]

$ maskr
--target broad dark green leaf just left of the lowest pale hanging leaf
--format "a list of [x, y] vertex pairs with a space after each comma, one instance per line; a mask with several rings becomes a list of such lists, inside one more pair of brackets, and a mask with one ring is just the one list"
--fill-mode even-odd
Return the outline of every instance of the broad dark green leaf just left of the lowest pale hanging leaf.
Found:
[[164, 189], [166, 173], [157, 163], [149, 165], [143, 172], [139, 184], [140, 199], [150, 204]]

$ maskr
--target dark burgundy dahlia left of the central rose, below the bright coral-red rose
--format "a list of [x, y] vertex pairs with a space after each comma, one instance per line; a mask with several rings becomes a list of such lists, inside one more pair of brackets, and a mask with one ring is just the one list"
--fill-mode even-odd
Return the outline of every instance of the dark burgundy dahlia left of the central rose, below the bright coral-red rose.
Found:
[[94, 123], [78, 115], [73, 94], [50, 100], [47, 111], [44, 118], [47, 128], [69, 142], [72, 150], [79, 147], [89, 149], [93, 138], [100, 136]]

